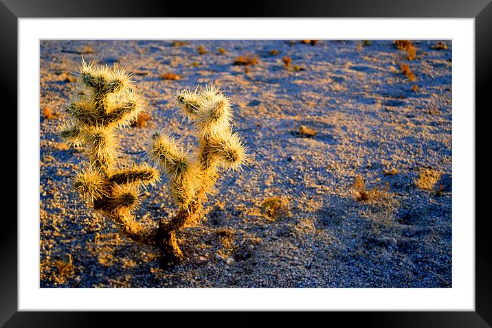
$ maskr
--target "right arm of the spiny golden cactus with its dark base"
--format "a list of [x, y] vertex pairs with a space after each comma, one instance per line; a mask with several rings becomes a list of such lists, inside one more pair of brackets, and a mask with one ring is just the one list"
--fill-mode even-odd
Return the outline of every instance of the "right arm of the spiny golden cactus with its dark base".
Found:
[[203, 202], [213, 194], [221, 170], [241, 169], [247, 161], [241, 137], [232, 132], [230, 98], [213, 86], [177, 94], [181, 116], [195, 128], [199, 147], [185, 151], [166, 132], [155, 132], [148, 143], [148, 158], [167, 176], [168, 188], [178, 207], [177, 215], [159, 222], [160, 246], [166, 264], [183, 259], [175, 233], [201, 216]]

